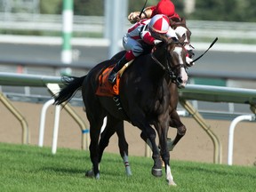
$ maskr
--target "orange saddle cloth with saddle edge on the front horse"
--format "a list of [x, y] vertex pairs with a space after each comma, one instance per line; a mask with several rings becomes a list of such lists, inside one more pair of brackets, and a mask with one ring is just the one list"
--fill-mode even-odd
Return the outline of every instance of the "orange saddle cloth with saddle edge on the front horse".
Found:
[[127, 62], [124, 65], [124, 67], [118, 71], [115, 84], [111, 84], [108, 82], [108, 76], [111, 70], [115, 67], [115, 65], [111, 65], [108, 68], [105, 68], [99, 76], [99, 85], [95, 94], [99, 96], [105, 96], [105, 97], [113, 97], [113, 96], [119, 95], [120, 78], [123, 75], [125, 69], [132, 64], [132, 61], [133, 60], [130, 60], [129, 62]]

